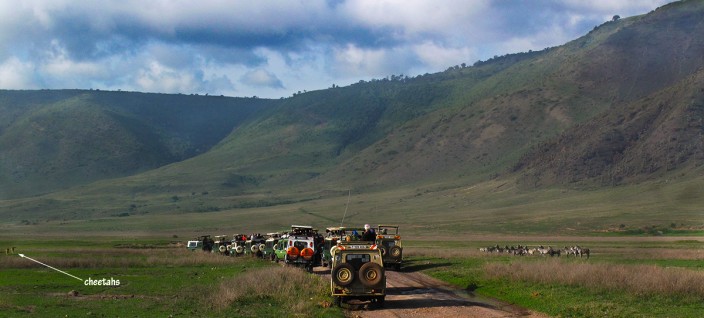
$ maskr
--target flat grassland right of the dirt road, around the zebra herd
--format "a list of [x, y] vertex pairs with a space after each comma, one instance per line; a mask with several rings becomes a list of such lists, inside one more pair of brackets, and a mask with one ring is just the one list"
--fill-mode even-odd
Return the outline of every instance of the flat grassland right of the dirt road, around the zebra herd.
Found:
[[[557, 317], [699, 317], [704, 238], [497, 236], [409, 242], [409, 270]], [[591, 257], [513, 256], [479, 247], [579, 244]]]

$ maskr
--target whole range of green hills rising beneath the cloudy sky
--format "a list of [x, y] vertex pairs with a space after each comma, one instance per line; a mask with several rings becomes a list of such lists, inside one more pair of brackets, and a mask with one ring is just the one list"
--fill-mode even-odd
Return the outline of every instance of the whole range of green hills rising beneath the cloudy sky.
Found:
[[[702, 20], [704, 2], [681, 1], [606, 22], [559, 47], [280, 100], [24, 92], [33, 96], [12, 98], [29, 105], [26, 113], [14, 110], [0, 127], [2, 149], [12, 154], [3, 153], [3, 169], [12, 173], [0, 181], [17, 183], [11, 168], [18, 158], [39, 157], [27, 165], [39, 170], [22, 179], [26, 185], [67, 187], [2, 201], [0, 211], [9, 220], [217, 211], [247, 211], [251, 218], [250, 209], [265, 208], [257, 210], [263, 218], [289, 211], [290, 217], [267, 221], [277, 226], [299, 219], [329, 223], [330, 213], [339, 212], [325, 210], [335, 206], [330, 200], [344, 201], [354, 189], [367, 217], [403, 218], [404, 210], [410, 217], [422, 207], [454, 228], [451, 223], [468, 218], [494, 222], [497, 211], [520, 215], [509, 222], [516, 224], [529, 218], [525, 211], [542, 215], [541, 222], [584, 221], [592, 207], [608, 214], [604, 202], [620, 205], [613, 213], [650, 216], [661, 213], [655, 207], [681, 207], [668, 199], [643, 209], [610, 194], [659, 189], [687, 197], [679, 220], [690, 220], [699, 202], [690, 190], [702, 182], [697, 171], [704, 159]], [[40, 152], [51, 142], [30, 135], [30, 128], [43, 118], [52, 119], [51, 136], [70, 136], [64, 138], [76, 145], [89, 144], [78, 142], [87, 136], [99, 142], [69, 154], [51, 147]], [[72, 130], [80, 122], [89, 125]], [[101, 127], [115, 128], [103, 136]], [[18, 140], [31, 142], [11, 146]], [[54, 161], [62, 164], [49, 164]], [[90, 168], [76, 164], [84, 161]], [[83, 171], [99, 172], [58, 182]], [[113, 178], [119, 176], [128, 177]], [[657, 185], [677, 176], [679, 185]], [[310, 206], [315, 212], [305, 212]], [[604, 222], [617, 222], [616, 214], [606, 214]]]

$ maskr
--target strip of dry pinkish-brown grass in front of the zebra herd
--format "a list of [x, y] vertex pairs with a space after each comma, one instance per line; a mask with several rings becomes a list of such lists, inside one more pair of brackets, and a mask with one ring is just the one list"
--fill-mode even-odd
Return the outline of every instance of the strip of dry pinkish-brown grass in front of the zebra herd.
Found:
[[594, 289], [627, 290], [640, 295], [682, 295], [704, 299], [704, 272], [654, 265], [545, 262], [486, 264], [488, 277]]

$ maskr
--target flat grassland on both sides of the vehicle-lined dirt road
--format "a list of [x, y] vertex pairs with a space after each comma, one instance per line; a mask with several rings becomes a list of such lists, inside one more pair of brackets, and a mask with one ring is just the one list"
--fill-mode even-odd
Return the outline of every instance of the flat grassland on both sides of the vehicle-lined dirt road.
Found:
[[[329, 282], [317, 275], [248, 257], [189, 252], [182, 243], [173, 237], [3, 235], [0, 247], [16, 249], [0, 255], [0, 316], [344, 315], [331, 306]], [[592, 254], [587, 260], [478, 250], [496, 244], [579, 244]], [[405, 271], [550, 316], [696, 317], [704, 310], [702, 237], [467, 235], [406, 240], [405, 250]], [[85, 286], [18, 253], [82, 279], [118, 279], [120, 286]]]

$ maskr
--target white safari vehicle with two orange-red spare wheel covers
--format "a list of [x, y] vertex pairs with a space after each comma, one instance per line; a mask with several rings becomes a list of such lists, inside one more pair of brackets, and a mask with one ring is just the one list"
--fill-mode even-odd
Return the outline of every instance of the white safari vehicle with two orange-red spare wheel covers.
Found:
[[[310, 226], [292, 225], [288, 234], [284, 261], [288, 265], [304, 267], [309, 272], [317, 265], [315, 238], [317, 231]], [[281, 253], [281, 252], [279, 252]]]

